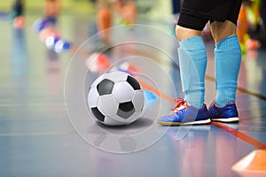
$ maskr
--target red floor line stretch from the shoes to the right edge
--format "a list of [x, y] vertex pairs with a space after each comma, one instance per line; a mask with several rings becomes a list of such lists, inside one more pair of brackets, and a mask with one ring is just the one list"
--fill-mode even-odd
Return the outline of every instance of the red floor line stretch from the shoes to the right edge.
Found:
[[253, 137], [246, 135], [246, 134], [240, 132], [239, 130], [236, 130], [232, 127], [229, 127], [226, 124], [223, 124], [221, 122], [212, 122], [212, 124], [215, 127], [219, 127], [221, 129], [223, 129], [225, 132], [236, 136], [237, 138], [243, 140], [244, 142], [247, 142], [247, 143], [253, 145], [254, 147], [256, 147], [260, 150], [266, 150], [266, 144], [255, 140]]

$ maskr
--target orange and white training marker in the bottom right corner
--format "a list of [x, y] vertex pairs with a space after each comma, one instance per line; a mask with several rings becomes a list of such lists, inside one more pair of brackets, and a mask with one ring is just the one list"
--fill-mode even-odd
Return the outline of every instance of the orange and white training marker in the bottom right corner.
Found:
[[254, 150], [232, 166], [241, 176], [266, 176], [266, 150]]

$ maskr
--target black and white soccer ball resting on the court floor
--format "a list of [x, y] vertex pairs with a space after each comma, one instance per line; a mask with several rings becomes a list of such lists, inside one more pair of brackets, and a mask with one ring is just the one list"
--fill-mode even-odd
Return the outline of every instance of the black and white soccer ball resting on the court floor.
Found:
[[110, 71], [92, 83], [88, 104], [94, 119], [109, 126], [129, 125], [142, 116], [145, 95], [129, 73]]

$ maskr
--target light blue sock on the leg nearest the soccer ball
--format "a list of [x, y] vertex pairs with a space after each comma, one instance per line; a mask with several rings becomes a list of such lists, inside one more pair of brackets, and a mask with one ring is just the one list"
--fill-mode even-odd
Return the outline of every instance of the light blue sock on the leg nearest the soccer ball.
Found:
[[204, 104], [204, 79], [207, 66], [206, 48], [200, 36], [180, 42], [178, 48], [184, 100], [201, 108]]

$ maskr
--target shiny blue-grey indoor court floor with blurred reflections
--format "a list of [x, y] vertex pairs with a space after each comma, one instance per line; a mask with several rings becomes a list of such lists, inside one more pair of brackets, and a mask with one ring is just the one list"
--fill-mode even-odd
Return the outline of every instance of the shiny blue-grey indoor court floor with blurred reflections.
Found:
[[[163, 127], [154, 121], [169, 112], [168, 97], [182, 96], [177, 44], [169, 21], [143, 15], [140, 23], [150, 27], [114, 30], [114, 38], [123, 36], [128, 44], [115, 38], [107, 55], [113, 63], [135, 62], [139, 77], [153, 86], [150, 107], [129, 127], [105, 127], [90, 119], [83, 100], [97, 74], [86, 75], [81, 52], [46, 49], [31, 31], [40, 16], [27, 14], [24, 29], [0, 21], [0, 176], [240, 176], [231, 166], [266, 149], [265, 49], [242, 57], [239, 123]], [[85, 40], [96, 33], [94, 16], [63, 14], [58, 30], [86, 50], [91, 41]], [[209, 105], [215, 98], [214, 46], [206, 46]]]

